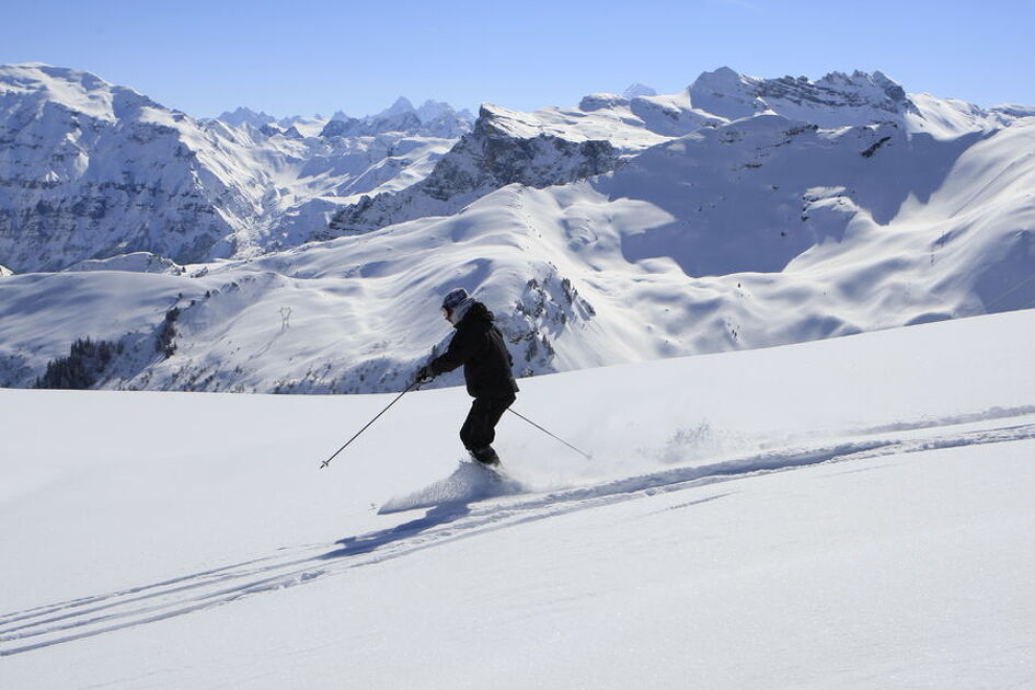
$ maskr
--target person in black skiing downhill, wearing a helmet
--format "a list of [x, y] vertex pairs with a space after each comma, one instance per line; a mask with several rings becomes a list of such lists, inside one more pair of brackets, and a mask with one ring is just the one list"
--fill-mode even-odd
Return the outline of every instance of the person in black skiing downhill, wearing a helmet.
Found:
[[492, 447], [496, 424], [519, 390], [510, 370], [514, 358], [493, 324], [493, 313], [463, 288], [446, 295], [442, 315], [457, 332], [444, 355], [417, 370], [417, 380], [429, 381], [463, 365], [463, 379], [474, 401], [460, 427], [460, 440], [478, 462], [498, 465], [499, 456]]

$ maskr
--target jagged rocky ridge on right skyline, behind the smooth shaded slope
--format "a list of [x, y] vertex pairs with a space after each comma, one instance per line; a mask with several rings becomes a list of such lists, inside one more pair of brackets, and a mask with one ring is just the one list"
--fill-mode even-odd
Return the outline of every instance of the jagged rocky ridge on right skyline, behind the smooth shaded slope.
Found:
[[[563, 184], [618, 168], [645, 148], [704, 127], [777, 114], [794, 123], [836, 130], [887, 123], [938, 139], [989, 131], [1024, 111], [985, 111], [961, 101], [911, 96], [884, 73], [832, 72], [759, 79], [727, 67], [701, 74], [686, 91], [647, 95], [595, 93], [577, 108], [517, 113], [482, 107], [465, 136], [419, 185], [400, 194], [364, 198], [338, 211], [332, 232], [363, 232], [422, 216], [453, 214], [473, 198], [510, 183]], [[631, 97], [630, 97], [631, 96]], [[1014, 114], [1011, 114], [1014, 113]]]

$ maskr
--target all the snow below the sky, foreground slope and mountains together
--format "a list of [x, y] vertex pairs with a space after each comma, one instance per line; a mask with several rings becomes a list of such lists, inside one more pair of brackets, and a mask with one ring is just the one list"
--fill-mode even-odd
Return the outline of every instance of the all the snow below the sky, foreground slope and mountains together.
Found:
[[[1032, 113], [722, 68], [263, 133], [0, 67], [0, 386], [117, 353], [0, 388], [0, 685], [1035, 683]], [[318, 469], [456, 286], [591, 459], [467, 461], [453, 372]]]

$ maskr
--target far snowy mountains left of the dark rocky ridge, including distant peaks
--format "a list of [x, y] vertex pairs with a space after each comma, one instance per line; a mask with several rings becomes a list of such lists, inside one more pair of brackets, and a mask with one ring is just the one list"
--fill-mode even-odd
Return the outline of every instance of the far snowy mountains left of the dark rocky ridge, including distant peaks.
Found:
[[32, 272], [292, 246], [360, 194], [425, 176], [459, 136], [447, 119], [355, 135], [244, 108], [195, 120], [85, 72], [0, 67], [0, 256]]

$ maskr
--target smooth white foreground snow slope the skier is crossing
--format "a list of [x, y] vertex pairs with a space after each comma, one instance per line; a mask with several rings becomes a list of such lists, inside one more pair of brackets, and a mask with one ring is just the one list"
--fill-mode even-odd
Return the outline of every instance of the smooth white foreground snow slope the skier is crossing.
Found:
[[1026, 310], [522, 379], [594, 460], [508, 415], [520, 493], [382, 515], [473, 485], [462, 389], [325, 470], [392, 396], [0, 390], [4, 685], [1026, 687], [1033, 338]]

